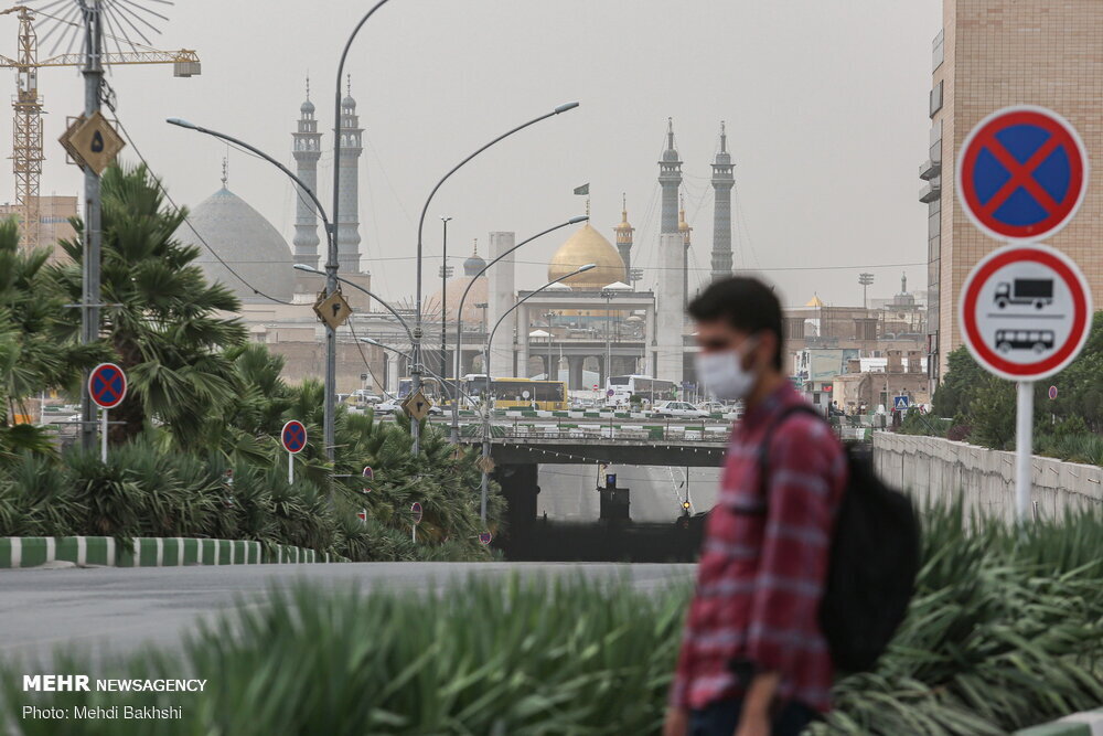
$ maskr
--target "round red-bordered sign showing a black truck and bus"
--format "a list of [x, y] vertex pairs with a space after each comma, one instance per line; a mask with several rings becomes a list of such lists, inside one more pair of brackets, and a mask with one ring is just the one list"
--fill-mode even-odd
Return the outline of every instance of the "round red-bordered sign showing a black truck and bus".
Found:
[[1009, 245], [976, 265], [959, 305], [962, 337], [986, 370], [1010, 381], [1053, 375], [1084, 346], [1092, 292], [1068, 256]]

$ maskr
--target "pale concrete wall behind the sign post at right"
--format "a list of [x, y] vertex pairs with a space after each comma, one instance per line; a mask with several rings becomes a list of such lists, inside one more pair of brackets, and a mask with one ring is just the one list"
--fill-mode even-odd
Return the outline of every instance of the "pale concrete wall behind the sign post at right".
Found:
[[[1041, 518], [1103, 503], [1103, 468], [1034, 458], [1032, 500]], [[1015, 454], [940, 437], [874, 433], [874, 466], [920, 504], [962, 495], [967, 510], [1015, 518]]]

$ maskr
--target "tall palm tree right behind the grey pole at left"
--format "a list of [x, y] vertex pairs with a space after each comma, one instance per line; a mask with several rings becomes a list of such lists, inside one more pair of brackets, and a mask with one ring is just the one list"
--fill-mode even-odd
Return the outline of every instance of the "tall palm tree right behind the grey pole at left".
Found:
[[[233, 365], [222, 349], [246, 338], [233, 317], [237, 298], [207, 284], [194, 264], [199, 248], [174, 239], [186, 211], [165, 206], [160, 182], [144, 166], [111, 167], [103, 180], [103, 330], [130, 382], [111, 413], [122, 424], [113, 444], [136, 437], [154, 419], [184, 448], [203, 444], [204, 418], [234, 397]], [[74, 221], [77, 233], [84, 224]], [[81, 294], [79, 242], [63, 242], [73, 264], [56, 277], [73, 299]]]

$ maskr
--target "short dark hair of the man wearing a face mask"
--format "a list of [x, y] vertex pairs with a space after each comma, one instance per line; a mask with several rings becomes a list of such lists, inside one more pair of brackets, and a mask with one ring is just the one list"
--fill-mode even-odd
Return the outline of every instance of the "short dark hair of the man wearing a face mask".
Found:
[[773, 289], [757, 278], [732, 276], [714, 281], [689, 302], [689, 316], [698, 322], [727, 320], [749, 334], [772, 332], [778, 338], [773, 367], [781, 370], [781, 302]]

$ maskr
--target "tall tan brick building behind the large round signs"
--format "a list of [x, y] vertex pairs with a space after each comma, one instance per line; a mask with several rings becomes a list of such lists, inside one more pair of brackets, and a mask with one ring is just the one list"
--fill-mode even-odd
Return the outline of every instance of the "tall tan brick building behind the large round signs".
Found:
[[[976, 230], [954, 191], [956, 154], [970, 130], [1009, 105], [1040, 105], [1068, 119], [1103, 164], [1103, 2], [943, 0], [934, 38], [931, 136], [920, 201], [928, 206], [929, 375], [962, 344], [957, 300], [970, 270], [999, 243]], [[1047, 243], [1083, 269], [1103, 305], [1103, 185], [1096, 174], [1080, 214]]]

